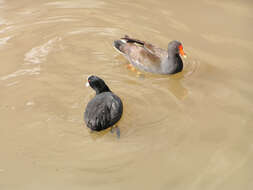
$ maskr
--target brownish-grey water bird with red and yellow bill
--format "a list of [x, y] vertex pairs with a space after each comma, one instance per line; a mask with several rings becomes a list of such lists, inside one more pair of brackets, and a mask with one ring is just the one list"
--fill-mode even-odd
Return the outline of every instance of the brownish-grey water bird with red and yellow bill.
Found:
[[165, 50], [126, 35], [115, 40], [114, 47], [140, 70], [157, 74], [175, 74], [183, 70], [180, 55], [186, 55], [179, 41], [171, 41], [168, 50]]

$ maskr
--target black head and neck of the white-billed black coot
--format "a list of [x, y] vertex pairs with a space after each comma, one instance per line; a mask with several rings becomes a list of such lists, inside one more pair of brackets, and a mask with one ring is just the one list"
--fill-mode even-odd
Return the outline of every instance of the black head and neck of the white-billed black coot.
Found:
[[89, 76], [88, 77], [88, 84], [91, 88], [93, 88], [96, 91], [96, 94], [102, 93], [102, 92], [110, 92], [110, 89], [105, 84], [103, 79], [97, 77], [97, 76]]

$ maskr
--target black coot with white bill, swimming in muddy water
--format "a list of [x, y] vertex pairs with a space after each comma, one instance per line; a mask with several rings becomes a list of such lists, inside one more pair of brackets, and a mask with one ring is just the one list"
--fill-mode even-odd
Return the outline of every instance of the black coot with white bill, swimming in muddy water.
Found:
[[[87, 86], [96, 92], [84, 113], [84, 121], [87, 127], [92, 131], [101, 131], [112, 127], [120, 120], [123, 113], [121, 99], [97, 76], [90, 76]], [[119, 131], [117, 131], [117, 135], [119, 136]]]

